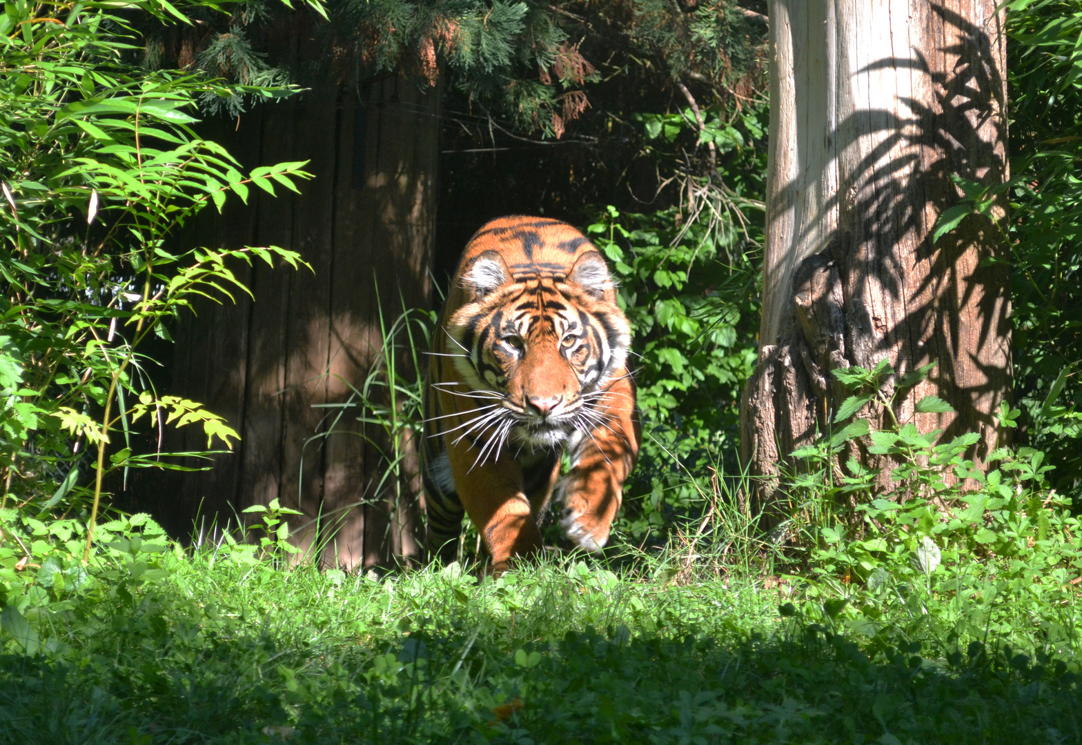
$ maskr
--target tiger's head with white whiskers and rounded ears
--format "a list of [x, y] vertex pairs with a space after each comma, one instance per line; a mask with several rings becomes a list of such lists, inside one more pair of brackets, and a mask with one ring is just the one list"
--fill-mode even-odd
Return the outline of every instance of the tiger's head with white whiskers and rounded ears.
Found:
[[586, 251], [563, 271], [516, 276], [497, 251], [462, 269], [448, 333], [460, 380], [487, 399], [486, 442], [552, 448], [596, 427], [606, 384], [626, 374], [631, 330], [605, 260]]

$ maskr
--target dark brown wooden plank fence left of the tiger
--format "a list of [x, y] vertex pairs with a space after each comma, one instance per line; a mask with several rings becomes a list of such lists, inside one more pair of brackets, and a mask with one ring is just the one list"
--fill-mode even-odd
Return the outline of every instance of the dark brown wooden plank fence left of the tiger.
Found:
[[[377, 287], [384, 312], [431, 306], [435, 232], [438, 91], [399, 76], [327, 85], [281, 104], [219, 121], [212, 138], [246, 167], [309, 160], [316, 178], [300, 196], [252, 190], [195, 229], [201, 244], [281, 245], [314, 271], [238, 267], [254, 302], [202, 304], [175, 335], [164, 393], [200, 401], [241, 434], [236, 452], [209, 471], [144, 473], [124, 504], [147, 509], [172, 532], [236, 524], [236, 515], [278, 498], [301, 509], [298, 545], [318, 546], [327, 566], [387, 566], [418, 555], [421, 496], [408, 479], [395, 504], [374, 493], [385, 463], [346, 401], [381, 348]], [[206, 445], [195, 427], [164, 433], [166, 451]], [[407, 458], [415, 471], [415, 458]], [[412, 473], [411, 471], [411, 473]], [[198, 515], [198, 523], [196, 518]], [[318, 528], [318, 530], [317, 530]]]

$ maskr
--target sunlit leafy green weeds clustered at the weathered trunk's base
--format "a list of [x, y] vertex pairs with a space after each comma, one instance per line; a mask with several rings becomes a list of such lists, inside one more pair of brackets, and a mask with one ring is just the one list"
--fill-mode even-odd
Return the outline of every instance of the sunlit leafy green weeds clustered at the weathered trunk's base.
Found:
[[[890, 582], [954, 583], [961, 591], [960, 577], [969, 574], [1020, 582], [1028, 595], [1034, 577], [1044, 578], [1045, 589], [1064, 587], [1082, 571], [1082, 544], [1070, 500], [1048, 490], [1044, 454], [999, 448], [982, 470], [966, 457], [976, 434], [940, 441], [941, 430], [921, 433], [898, 421], [897, 399], [932, 369], [899, 376], [890, 396], [884, 384], [894, 371], [885, 360], [872, 370], [833, 371], [853, 395], [835, 414], [836, 430], [793, 452], [791, 514], [778, 535], [794, 536], [813, 573], [835, 588], [876, 593]], [[854, 418], [868, 405], [889, 426], [873, 429], [867, 418]], [[915, 411], [952, 410], [926, 396]], [[998, 418], [1014, 427], [1018, 415], [1004, 402]], [[879, 471], [857, 460], [858, 442], [888, 464], [893, 488], [884, 490]], [[839, 456], [846, 453], [842, 468]]]

